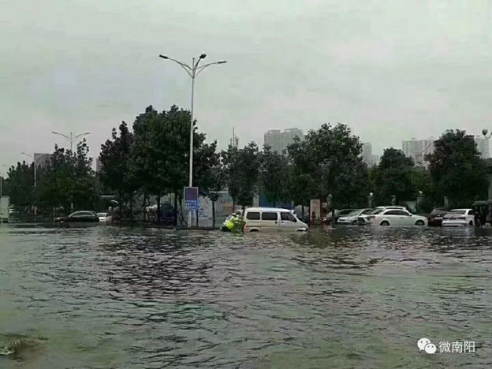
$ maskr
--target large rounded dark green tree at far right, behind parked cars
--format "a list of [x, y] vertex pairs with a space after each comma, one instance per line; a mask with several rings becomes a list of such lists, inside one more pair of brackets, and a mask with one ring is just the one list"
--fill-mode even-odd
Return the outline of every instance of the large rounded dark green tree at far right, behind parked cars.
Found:
[[474, 137], [462, 130], [447, 130], [427, 154], [430, 175], [438, 199], [449, 198], [454, 207], [469, 207], [476, 198], [486, 198], [487, 168]]

